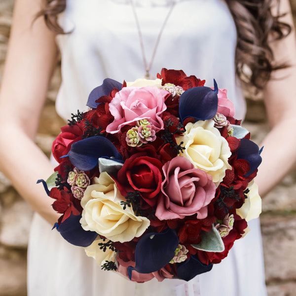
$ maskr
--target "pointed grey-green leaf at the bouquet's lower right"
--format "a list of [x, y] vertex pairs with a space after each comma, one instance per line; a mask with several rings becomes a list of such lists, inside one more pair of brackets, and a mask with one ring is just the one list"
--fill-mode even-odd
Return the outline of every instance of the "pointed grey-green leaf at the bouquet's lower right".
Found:
[[221, 235], [214, 224], [210, 232], [202, 230], [201, 242], [197, 245], [191, 245], [193, 248], [206, 252], [223, 252], [225, 250]]

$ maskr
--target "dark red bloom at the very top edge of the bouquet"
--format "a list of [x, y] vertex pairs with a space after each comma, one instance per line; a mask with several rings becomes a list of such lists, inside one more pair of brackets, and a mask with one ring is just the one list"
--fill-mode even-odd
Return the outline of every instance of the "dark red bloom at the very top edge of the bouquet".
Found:
[[181, 86], [184, 90], [187, 90], [196, 86], [203, 86], [205, 80], [200, 80], [194, 75], [186, 76], [182, 70], [167, 70], [162, 68], [161, 73], [157, 74], [157, 78], [162, 78], [162, 85], [165, 83], [172, 83], [176, 86]]

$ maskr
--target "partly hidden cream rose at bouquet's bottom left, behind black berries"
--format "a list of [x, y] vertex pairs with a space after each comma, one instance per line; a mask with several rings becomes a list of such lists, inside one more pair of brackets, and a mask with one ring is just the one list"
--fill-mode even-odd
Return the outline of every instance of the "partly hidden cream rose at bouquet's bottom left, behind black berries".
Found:
[[[106, 242], [106, 241], [105, 241]], [[107, 248], [104, 252], [99, 246], [99, 243], [105, 243], [103, 239], [98, 236], [91, 245], [84, 248], [85, 253], [88, 257], [92, 257], [96, 260], [97, 264], [102, 266], [106, 261], [115, 261], [116, 253], [111, 249]]]

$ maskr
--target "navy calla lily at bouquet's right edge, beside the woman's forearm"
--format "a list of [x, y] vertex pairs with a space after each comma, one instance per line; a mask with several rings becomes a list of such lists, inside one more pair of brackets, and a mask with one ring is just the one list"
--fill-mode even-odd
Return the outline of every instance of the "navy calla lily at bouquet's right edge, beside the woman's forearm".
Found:
[[262, 161], [262, 157], [260, 156], [262, 149], [263, 147], [259, 150], [258, 145], [251, 140], [240, 140], [240, 147], [237, 150], [237, 159], [246, 159], [250, 163], [250, 171], [245, 174], [245, 177], [249, 177], [259, 167]]

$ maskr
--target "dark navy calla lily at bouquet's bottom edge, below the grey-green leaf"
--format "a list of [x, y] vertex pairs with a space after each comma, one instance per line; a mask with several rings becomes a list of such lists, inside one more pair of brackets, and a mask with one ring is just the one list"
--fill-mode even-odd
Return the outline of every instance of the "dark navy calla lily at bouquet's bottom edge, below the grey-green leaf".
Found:
[[210, 271], [212, 267], [213, 264], [205, 265], [191, 256], [185, 263], [177, 267], [177, 276], [182, 280], [190, 281], [196, 275]]

